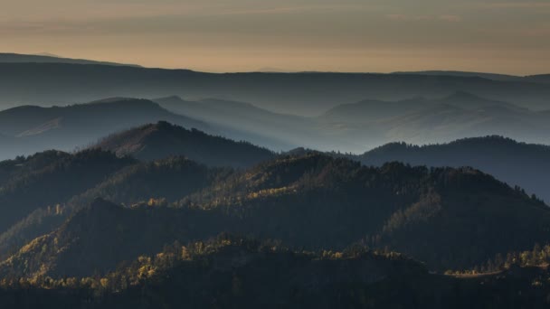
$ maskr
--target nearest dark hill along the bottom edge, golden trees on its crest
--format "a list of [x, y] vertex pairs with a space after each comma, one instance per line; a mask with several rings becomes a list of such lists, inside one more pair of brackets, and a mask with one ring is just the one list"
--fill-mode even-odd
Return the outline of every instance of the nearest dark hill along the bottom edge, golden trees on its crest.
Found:
[[5, 280], [0, 305], [546, 308], [548, 286], [540, 283], [549, 275], [547, 267], [531, 266], [482, 276], [439, 276], [392, 252], [365, 248], [301, 252], [269, 241], [222, 236], [186, 246], [174, 244], [104, 277]]

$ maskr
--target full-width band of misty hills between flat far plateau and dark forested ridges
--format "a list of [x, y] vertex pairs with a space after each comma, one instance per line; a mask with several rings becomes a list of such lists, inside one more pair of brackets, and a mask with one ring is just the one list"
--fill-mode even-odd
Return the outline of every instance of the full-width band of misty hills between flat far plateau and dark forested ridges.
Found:
[[[166, 109], [165, 109], [166, 108]], [[20, 107], [0, 112], [0, 158], [49, 148], [72, 150], [100, 137], [163, 120], [273, 150], [305, 146], [364, 152], [394, 141], [446, 143], [464, 136], [507, 136], [550, 143], [549, 116], [514, 104], [456, 92], [443, 98], [363, 100], [318, 117], [273, 113], [249, 103], [178, 97], [109, 98], [68, 107]]]

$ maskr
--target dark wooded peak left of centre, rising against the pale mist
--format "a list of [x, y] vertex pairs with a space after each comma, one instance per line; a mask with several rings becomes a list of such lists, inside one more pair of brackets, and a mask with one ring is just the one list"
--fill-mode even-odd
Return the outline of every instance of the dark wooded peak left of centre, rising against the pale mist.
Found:
[[108, 136], [92, 147], [109, 150], [119, 156], [132, 155], [141, 160], [185, 155], [213, 166], [245, 167], [274, 156], [265, 148], [209, 136], [196, 129], [187, 130], [164, 121]]

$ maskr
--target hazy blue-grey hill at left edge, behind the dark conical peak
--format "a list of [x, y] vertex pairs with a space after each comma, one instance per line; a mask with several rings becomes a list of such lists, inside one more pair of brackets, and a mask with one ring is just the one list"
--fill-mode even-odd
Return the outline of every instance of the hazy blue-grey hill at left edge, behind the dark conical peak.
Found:
[[52, 148], [71, 151], [113, 132], [160, 120], [216, 132], [204, 122], [175, 115], [145, 99], [114, 98], [67, 107], [11, 108], [0, 112], [0, 134], [11, 136], [20, 146], [2, 146], [0, 159]]

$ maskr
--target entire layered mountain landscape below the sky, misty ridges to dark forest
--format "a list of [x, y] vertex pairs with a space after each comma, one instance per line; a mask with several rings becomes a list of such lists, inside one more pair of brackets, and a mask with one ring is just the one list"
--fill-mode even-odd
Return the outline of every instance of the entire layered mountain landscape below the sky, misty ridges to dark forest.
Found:
[[547, 308], [547, 80], [0, 54], [0, 307]]

